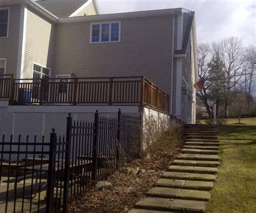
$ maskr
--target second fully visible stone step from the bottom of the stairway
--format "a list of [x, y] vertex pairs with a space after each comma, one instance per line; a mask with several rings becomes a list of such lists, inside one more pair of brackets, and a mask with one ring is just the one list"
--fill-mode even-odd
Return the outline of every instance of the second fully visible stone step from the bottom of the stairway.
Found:
[[208, 191], [153, 187], [147, 193], [147, 196], [163, 197], [163, 198], [178, 198], [185, 200], [208, 201], [210, 193]]

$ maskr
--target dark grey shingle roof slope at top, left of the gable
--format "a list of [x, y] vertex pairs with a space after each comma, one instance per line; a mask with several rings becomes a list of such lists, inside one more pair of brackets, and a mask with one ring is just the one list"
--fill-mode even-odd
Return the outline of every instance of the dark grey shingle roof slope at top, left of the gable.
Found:
[[59, 18], [69, 17], [88, 0], [44, 0], [35, 1]]

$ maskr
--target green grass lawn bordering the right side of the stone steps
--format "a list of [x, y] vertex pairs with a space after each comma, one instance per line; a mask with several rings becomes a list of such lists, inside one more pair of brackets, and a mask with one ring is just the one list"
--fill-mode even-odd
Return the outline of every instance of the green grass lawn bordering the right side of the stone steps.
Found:
[[219, 126], [221, 166], [206, 212], [256, 212], [256, 126]]

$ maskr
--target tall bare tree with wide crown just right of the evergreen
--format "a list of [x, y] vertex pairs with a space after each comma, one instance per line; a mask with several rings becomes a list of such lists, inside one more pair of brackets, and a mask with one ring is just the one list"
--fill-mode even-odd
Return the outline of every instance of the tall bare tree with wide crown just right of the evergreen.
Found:
[[238, 37], [230, 37], [221, 39], [212, 45], [213, 51], [217, 53], [224, 64], [225, 82], [223, 85], [225, 92], [225, 116], [228, 115], [228, 105], [231, 102], [232, 91], [241, 81], [242, 73], [245, 68], [244, 49], [241, 39]]

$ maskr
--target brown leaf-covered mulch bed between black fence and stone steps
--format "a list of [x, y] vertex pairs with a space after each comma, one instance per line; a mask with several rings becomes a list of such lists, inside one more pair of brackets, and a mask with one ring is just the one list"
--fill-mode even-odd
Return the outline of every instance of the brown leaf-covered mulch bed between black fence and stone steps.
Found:
[[154, 160], [137, 159], [127, 167], [146, 169], [145, 173], [125, 174], [116, 172], [107, 178], [110, 188], [92, 188], [69, 205], [69, 212], [127, 212], [143, 198], [146, 192], [164, 173], [164, 170], [180, 152], [180, 147], [172, 152], [163, 152]]

